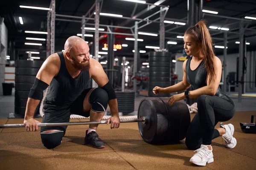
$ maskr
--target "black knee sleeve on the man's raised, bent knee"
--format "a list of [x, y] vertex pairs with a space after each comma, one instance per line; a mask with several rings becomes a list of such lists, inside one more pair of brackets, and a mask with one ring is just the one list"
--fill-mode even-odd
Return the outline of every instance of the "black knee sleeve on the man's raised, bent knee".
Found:
[[108, 107], [108, 93], [102, 88], [94, 88], [89, 96], [89, 103], [95, 112], [105, 112]]

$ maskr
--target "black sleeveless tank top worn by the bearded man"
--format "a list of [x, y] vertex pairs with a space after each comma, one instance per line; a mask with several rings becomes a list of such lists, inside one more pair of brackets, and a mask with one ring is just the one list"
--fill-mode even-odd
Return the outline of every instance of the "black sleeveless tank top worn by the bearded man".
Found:
[[58, 52], [61, 60], [60, 70], [55, 76], [44, 99], [44, 112], [66, 111], [72, 102], [87, 88], [90, 80], [89, 71], [81, 71], [77, 78], [71, 77], [67, 71], [63, 52]]

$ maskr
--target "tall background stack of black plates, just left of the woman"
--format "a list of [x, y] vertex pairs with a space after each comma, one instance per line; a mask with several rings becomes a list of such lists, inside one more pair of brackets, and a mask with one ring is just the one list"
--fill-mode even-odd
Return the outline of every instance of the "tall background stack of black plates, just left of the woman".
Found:
[[170, 94], [158, 94], [157, 96], [152, 92], [155, 86], [166, 88], [171, 84], [171, 60], [172, 55], [169, 52], [152, 51], [149, 53], [149, 83], [148, 96], [149, 97], [166, 97]]

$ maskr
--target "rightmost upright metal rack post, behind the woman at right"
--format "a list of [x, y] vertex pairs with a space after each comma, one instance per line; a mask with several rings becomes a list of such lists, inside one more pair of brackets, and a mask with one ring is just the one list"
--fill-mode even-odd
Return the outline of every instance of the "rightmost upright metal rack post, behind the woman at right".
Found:
[[238, 71], [238, 102], [242, 101], [242, 76], [243, 76], [243, 56], [244, 56], [244, 21], [241, 20], [239, 23], [239, 71]]

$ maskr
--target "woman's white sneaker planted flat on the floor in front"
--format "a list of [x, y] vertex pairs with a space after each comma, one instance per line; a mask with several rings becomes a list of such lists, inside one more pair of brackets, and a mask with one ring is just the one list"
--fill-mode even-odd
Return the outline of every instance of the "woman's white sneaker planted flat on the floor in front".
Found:
[[212, 150], [209, 150], [207, 145], [201, 144], [201, 147], [195, 151], [197, 151], [197, 153], [195, 153], [195, 155], [190, 159], [191, 163], [199, 166], [205, 166], [206, 163], [209, 164], [214, 161]]

